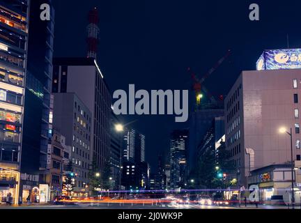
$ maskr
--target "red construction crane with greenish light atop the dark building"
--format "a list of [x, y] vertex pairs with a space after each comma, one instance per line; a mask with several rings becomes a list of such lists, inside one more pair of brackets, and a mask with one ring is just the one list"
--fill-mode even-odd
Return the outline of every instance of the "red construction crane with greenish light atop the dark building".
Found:
[[[215, 63], [215, 66], [208, 70], [208, 72], [199, 79], [194, 72], [192, 72], [191, 68], [188, 68], [188, 72], [190, 73], [192, 80], [194, 82], [193, 84], [193, 90], [195, 93], [195, 98], [196, 98], [196, 110], [200, 108], [201, 105], [201, 99], [203, 98], [203, 93], [205, 93], [208, 98], [210, 98], [210, 101], [214, 104], [217, 105], [217, 100], [215, 100], [215, 97], [210, 94], [210, 92], [206, 89], [205, 86], [203, 86], [203, 82], [213, 73], [217, 68], [230, 56], [231, 51], [229, 50], [226, 55], [224, 55], [217, 63]], [[203, 92], [203, 93], [202, 93]]]

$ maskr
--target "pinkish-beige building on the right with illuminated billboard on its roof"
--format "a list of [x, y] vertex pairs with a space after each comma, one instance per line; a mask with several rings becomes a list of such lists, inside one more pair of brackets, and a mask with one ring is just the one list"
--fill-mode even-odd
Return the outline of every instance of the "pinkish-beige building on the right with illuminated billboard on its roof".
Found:
[[[225, 99], [226, 148], [236, 162], [239, 185], [250, 171], [300, 162], [301, 49], [265, 51], [257, 70], [242, 71]], [[272, 185], [272, 184], [271, 184]], [[272, 187], [272, 186], [271, 186]]]

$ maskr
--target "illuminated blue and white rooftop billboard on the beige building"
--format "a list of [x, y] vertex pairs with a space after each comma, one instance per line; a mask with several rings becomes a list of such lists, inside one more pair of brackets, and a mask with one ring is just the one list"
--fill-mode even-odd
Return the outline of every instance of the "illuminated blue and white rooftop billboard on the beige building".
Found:
[[256, 63], [256, 70], [301, 69], [301, 49], [265, 50]]

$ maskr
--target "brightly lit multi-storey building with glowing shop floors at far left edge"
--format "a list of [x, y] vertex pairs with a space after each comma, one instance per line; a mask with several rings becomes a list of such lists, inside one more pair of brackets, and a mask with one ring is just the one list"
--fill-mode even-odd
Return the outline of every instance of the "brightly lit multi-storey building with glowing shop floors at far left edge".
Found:
[[28, 1], [0, 1], [0, 198], [17, 203], [24, 124]]

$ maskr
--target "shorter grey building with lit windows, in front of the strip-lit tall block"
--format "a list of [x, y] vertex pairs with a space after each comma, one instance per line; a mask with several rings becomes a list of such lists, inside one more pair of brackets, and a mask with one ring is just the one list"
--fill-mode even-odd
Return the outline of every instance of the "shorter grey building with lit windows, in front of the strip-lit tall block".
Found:
[[72, 191], [77, 197], [87, 193], [88, 171], [91, 167], [92, 114], [75, 93], [53, 93], [53, 125], [72, 147], [70, 160], [76, 174], [76, 187]]

